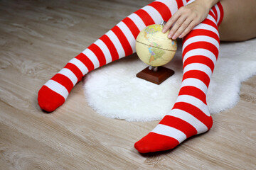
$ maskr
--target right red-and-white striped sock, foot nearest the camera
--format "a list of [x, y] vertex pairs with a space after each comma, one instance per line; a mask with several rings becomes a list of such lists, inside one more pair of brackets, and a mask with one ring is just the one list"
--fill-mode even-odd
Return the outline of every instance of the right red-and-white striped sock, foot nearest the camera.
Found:
[[218, 58], [218, 26], [222, 18], [223, 8], [218, 3], [210, 10], [206, 20], [183, 38], [183, 81], [177, 101], [159, 125], [135, 143], [134, 147], [139, 152], [173, 149], [188, 137], [212, 127], [206, 94]]

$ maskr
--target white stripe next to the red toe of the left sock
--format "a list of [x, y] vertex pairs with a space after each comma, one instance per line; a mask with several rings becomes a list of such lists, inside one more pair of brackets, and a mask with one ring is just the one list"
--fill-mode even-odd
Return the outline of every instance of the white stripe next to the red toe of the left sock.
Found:
[[65, 86], [59, 84], [58, 82], [50, 79], [44, 85], [48, 86], [49, 89], [55, 91], [57, 94], [63, 96], [63, 98], [66, 99], [68, 97], [68, 90], [65, 89]]

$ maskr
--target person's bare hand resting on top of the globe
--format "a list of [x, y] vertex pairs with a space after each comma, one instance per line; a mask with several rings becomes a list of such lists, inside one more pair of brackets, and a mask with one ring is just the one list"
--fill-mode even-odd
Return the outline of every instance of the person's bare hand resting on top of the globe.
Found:
[[167, 21], [162, 32], [166, 33], [171, 28], [168, 38], [176, 40], [185, 37], [198, 23], [206, 19], [211, 7], [208, 1], [196, 0], [179, 8]]

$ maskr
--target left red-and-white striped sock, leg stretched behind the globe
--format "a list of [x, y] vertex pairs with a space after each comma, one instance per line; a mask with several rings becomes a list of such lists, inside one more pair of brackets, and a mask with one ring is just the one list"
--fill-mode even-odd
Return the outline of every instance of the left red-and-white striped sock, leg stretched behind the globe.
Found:
[[44, 111], [54, 111], [68, 97], [73, 86], [87, 74], [109, 62], [132, 55], [135, 40], [146, 26], [168, 21], [171, 13], [186, 0], [158, 0], [124, 18], [99, 40], [73, 58], [38, 91], [38, 104]]

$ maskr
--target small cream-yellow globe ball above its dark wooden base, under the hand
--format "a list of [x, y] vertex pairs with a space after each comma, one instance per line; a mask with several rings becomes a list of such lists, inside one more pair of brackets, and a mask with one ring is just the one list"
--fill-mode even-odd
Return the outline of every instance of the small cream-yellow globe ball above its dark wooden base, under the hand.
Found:
[[169, 30], [162, 33], [163, 25], [154, 24], [144, 28], [136, 39], [136, 51], [142, 62], [159, 67], [170, 62], [177, 50], [176, 40], [167, 38]]

